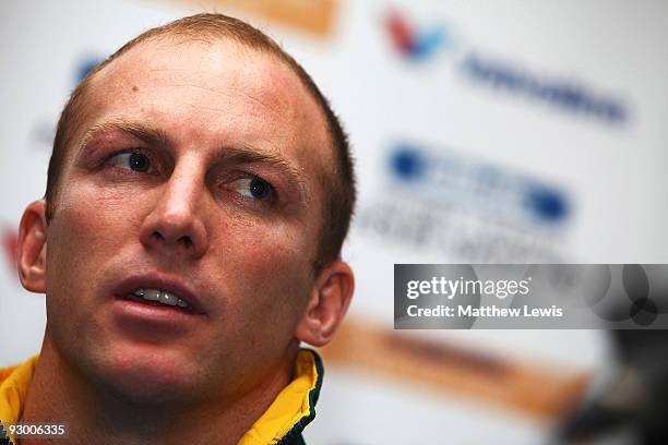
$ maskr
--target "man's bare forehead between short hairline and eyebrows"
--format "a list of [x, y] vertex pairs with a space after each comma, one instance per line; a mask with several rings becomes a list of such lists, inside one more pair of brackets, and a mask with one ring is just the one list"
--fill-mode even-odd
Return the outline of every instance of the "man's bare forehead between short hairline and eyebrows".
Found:
[[311, 175], [333, 163], [324, 113], [295, 72], [229, 40], [141, 43], [93, 76], [81, 110], [73, 141], [122, 118], [158, 127], [180, 144], [271, 148]]

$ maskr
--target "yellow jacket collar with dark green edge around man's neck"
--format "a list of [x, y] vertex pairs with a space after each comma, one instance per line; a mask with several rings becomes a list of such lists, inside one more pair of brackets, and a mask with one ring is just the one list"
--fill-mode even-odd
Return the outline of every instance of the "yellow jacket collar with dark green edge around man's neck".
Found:
[[[19, 366], [0, 370], [1, 421], [17, 422], [21, 418], [38, 358], [35, 356]], [[318, 353], [301, 349], [293, 374], [293, 381], [243, 434], [238, 445], [278, 444], [300, 434], [313, 420], [323, 374]]]

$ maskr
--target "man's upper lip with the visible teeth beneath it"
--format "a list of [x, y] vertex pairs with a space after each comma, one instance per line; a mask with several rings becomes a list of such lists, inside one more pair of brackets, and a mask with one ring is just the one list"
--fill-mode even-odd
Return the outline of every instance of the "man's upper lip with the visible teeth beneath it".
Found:
[[145, 305], [170, 309], [188, 314], [203, 314], [195, 293], [179, 280], [157, 275], [132, 277], [124, 280], [114, 292], [120, 300]]

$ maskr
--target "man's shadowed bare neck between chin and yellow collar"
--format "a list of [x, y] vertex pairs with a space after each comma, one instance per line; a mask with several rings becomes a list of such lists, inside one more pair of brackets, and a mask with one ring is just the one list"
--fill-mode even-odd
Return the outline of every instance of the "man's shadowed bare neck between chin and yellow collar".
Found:
[[[146, 406], [121, 400], [85, 378], [53, 348], [47, 330], [21, 421], [65, 422], [72, 444], [111, 437], [116, 444], [236, 444], [289, 383], [298, 345], [289, 349], [291, 360], [234, 399]], [[21, 444], [32, 442], [25, 438]]]

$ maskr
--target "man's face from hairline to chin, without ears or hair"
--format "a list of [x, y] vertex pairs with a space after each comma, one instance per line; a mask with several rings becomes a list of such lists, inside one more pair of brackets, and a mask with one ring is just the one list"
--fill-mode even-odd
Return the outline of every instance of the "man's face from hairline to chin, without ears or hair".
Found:
[[[270, 376], [314, 284], [332, 158], [315, 103], [270, 56], [148, 41], [85, 104], [47, 234], [56, 348], [139, 399]], [[141, 302], [153, 289], [193, 309]]]

